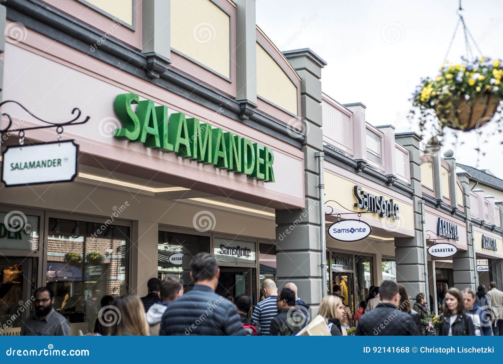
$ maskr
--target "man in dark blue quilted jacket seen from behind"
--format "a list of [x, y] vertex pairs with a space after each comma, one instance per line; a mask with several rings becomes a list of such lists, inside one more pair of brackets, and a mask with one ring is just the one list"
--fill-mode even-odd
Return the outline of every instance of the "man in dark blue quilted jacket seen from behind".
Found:
[[195, 286], [167, 306], [159, 335], [245, 335], [234, 304], [215, 293], [220, 276], [215, 257], [197, 253], [190, 266]]

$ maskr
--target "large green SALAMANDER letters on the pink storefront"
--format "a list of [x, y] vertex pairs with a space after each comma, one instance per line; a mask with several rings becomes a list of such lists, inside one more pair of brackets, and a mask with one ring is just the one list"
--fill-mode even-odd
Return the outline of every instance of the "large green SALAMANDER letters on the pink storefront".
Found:
[[[136, 112], [132, 104], [138, 105]], [[187, 118], [184, 113], [168, 117], [166, 106], [154, 106], [150, 100], [139, 101], [136, 94], [118, 95], [114, 107], [123, 124], [123, 128], [115, 130], [118, 139], [141, 142], [148, 148], [175, 152], [217, 168], [274, 182], [271, 148], [212, 128], [196, 118]]]

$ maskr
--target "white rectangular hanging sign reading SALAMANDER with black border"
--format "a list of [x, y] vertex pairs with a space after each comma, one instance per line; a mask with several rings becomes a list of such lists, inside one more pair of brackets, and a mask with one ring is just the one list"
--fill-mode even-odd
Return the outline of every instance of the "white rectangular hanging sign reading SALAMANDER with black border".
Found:
[[71, 181], [77, 175], [77, 154], [73, 140], [8, 146], [2, 182], [12, 187]]

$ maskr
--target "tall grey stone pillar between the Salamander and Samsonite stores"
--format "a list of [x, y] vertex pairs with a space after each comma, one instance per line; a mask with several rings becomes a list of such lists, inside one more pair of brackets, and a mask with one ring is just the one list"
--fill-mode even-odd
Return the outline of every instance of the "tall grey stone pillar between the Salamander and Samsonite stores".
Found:
[[[326, 65], [310, 49], [284, 52], [301, 77], [301, 117], [306, 132], [304, 152], [305, 209], [276, 210], [277, 275], [279, 286], [294, 282], [299, 297], [311, 305], [315, 315], [321, 302], [320, 223], [318, 170], [314, 153], [323, 150], [321, 129], [321, 68]], [[322, 172], [322, 171], [321, 171]]]

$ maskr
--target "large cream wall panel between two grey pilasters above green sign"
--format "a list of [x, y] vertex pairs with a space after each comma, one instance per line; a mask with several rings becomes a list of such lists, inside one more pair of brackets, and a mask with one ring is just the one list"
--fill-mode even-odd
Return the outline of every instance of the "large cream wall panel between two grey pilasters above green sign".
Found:
[[171, 0], [171, 47], [230, 78], [230, 17], [210, 0]]

